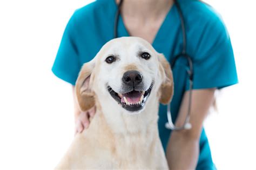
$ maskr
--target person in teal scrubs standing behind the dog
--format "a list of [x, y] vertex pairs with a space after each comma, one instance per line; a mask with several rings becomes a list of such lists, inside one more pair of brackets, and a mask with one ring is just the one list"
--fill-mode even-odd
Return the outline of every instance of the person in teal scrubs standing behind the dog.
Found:
[[[75, 85], [83, 63], [89, 62], [114, 36], [114, 21], [120, 0], [98, 0], [76, 10], [66, 29], [52, 67], [57, 77]], [[178, 1], [183, 12], [186, 52], [192, 56], [191, 130], [165, 128], [166, 106], [159, 107], [159, 136], [170, 169], [215, 169], [203, 121], [214, 100], [214, 91], [238, 83], [231, 40], [220, 15], [195, 0]], [[117, 25], [118, 37], [142, 37], [169, 62], [181, 52], [182, 30], [177, 6], [172, 0], [124, 0]], [[174, 96], [171, 102], [175, 125], [187, 114], [189, 82], [187, 66], [179, 59], [173, 69]], [[74, 88], [73, 88], [74, 89]], [[95, 107], [87, 112], [75, 109], [76, 131], [89, 126]]]

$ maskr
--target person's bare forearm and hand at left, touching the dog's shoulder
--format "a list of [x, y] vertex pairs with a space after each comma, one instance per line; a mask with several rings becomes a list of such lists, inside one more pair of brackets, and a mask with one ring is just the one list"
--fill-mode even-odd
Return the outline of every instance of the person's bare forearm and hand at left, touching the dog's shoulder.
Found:
[[92, 118], [95, 114], [95, 107], [92, 107], [89, 111], [82, 112], [80, 111], [79, 105], [77, 103], [76, 95], [75, 95], [75, 87], [72, 86], [73, 91], [73, 99], [74, 99], [74, 106], [75, 106], [75, 134], [81, 133], [84, 128], [89, 127], [90, 124], [90, 117]]

